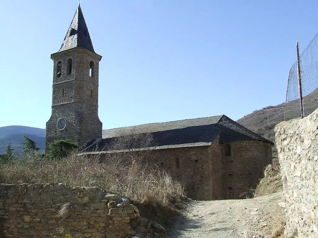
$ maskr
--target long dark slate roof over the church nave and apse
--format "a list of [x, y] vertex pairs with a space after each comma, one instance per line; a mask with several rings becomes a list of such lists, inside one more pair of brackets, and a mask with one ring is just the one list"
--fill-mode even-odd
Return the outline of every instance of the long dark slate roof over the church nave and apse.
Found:
[[[260, 140], [273, 142], [234, 122], [225, 115], [187, 119], [174, 122], [150, 123], [130, 127], [103, 130], [103, 139], [88, 144], [84, 152], [108, 151], [109, 145], [121, 135], [151, 133], [153, 142], [149, 149], [209, 146], [219, 135], [219, 142]], [[129, 149], [129, 148], [127, 148]]]

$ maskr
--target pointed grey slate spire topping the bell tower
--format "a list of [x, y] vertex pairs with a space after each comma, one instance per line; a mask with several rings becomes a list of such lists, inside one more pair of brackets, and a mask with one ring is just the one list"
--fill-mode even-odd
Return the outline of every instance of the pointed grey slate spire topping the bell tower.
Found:
[[72, 48], [84, 48], [95, 53], [80, 5], [75, 12], [59, 52]]

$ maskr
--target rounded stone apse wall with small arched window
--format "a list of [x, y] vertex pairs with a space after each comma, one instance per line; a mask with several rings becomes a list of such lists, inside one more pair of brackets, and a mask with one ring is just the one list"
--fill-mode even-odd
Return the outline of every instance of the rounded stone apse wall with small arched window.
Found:
[[245, 140], [228, 143], [231, 156], [225, 156], [222, 144], [222, 181], [225, 199], [239, 199], [241, 193], [249, 192], [259, 184], [264, 168], [272, 163], [272, 145], [264, 141]]

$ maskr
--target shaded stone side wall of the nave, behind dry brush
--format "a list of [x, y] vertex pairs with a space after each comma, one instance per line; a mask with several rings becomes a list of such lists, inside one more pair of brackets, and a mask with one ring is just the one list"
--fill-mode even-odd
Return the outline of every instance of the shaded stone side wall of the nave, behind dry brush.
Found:
[[221, 151], [218, 138], [211, 146], [157, 150], [150, 162], [167, 169], [174, 179], [183, 182], [187, 196], [191, 199], [222, 199], [222, 178], [219, 176]]

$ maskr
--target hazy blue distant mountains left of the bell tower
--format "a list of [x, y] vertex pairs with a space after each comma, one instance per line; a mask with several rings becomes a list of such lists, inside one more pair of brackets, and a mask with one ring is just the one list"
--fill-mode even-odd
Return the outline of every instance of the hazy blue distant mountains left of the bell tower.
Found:
[[3, 154], [7, 145], [11, 143], [15, 154], [22, 151], [23, 146], [20, 143], [24, 142], [23, 136], [37, 142], [37, 146], [42, 148], [40, 153], [45, 148], [45, 129], [27, 127], [27, 126], [5, 126], [0, 127], [0, 154]]

